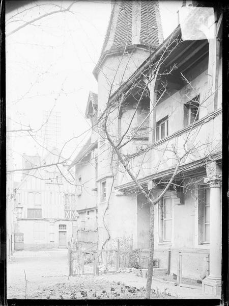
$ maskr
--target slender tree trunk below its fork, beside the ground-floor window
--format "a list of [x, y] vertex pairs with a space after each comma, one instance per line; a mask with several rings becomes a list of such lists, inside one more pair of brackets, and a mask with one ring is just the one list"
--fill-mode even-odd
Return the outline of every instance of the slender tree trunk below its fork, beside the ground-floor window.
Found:
[[150, 203], [150, 255], [146, 286], [146, 299], [150, 299], [154, 259], [154, 204]]

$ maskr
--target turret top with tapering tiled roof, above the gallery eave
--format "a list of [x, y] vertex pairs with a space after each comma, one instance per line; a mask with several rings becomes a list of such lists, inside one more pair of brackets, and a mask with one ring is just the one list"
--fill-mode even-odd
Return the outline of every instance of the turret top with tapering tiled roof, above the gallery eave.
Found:
[[[158, 1], [114, 1], [99, 61], [98, 107], [163, 41]], [[112, 88], [111, 88], [112, 86]]]

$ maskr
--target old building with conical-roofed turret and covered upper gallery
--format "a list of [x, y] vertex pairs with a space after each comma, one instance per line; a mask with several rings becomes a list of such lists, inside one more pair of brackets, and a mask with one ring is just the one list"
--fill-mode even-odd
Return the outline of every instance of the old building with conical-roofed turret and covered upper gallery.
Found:
[[153, 197], [173, 177], [155, 205], [154, 256], [167, 268], [169, 251], [177, 273], [182, 253], [183, 276], [204, 274], [204, 291], [219, 294], [222, 17], [212, 10], [212, 36], [198, 28], [204, 38], [187, 40], [178, 25], [163, 41], [158, 2], [113, 5], [94, 69], [98, 96], [89, 95], [86, 111], [92, 136], [74, 163], [77, 210], [95, 212], [99, 249], [123, 236], [149, 249], [150, 207], [127, 168]]

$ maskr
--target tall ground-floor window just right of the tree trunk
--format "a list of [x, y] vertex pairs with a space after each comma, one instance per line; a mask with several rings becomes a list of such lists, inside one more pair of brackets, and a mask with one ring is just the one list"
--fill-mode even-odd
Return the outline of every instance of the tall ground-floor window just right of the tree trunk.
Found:
[[171, 242], [173, 209], [171, 198], [163, 198], [160, 203], [160, 242]]

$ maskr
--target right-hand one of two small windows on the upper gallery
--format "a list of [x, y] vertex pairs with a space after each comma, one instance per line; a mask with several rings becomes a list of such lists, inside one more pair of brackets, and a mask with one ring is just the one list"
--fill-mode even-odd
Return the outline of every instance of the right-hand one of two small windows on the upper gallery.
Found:
[[199, 95], [184, 105], [184, 126], [197, 121], [199, 118]]

